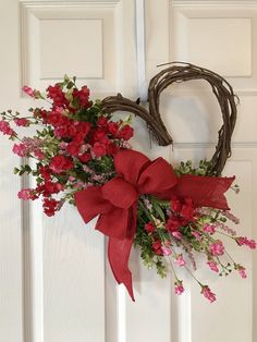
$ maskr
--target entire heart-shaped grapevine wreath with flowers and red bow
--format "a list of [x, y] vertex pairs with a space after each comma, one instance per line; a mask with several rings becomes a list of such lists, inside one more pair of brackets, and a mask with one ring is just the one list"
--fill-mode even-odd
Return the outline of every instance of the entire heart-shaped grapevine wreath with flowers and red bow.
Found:
[[[207, 81], [220, 105], [223, 124], [211, 160], [201, 161], [197, 168], [191, 161], [173, 168], [162, 158], [151, 161], [133, 150], [128, 144], [134, 133], [131, 115], [114, 121], [112, 113], [139, 115], [159, 145], [172, 144], [159, 112], [160, 94], [172, 83], [189, 80]], [[235, 269], [246, 278], [245, 268], [231, 258], [222, 241], [225, 235], [238, 246], [256, 248], [254, 240], [236, 235], [227, 223], [238, 223], [224, 197], [229, 188], [238, 191], [232, 186], [234, 176], [221, 176], [231, 155], [236, 120], [236, 97], [230, 84], [209, 70], [172, 63], [151, 78], [147, 110], [120, 94], [93, 102], [87, 86], [78, 89], [75, 82], [75, 77], [65, 76], [49, 86], [46, 95], [24, 86], [28, 96], [45, 100], [47, 107], [30, 108], [25, 115], [12, 110], [1, 113], [0, 131], [16, 141], [13, 152], [23, 160], [36, 160], [34, 167], [25, 162], [14, 169], [16, 174], [30, 174], [36, 180], [36, 186], [21, 190], [19, 197], [42, 198], [47, 216], [53, 216], [65, 201], [76, 205], [85, 222], [98, 216], [96, 229], [109, 236], [113, 274], [133, 300], [127, 267], [133, 244], [139, 246], [148, 268], [155, 266], [161, 277], [168, 269], [172, 271], [176, 294], [182, 294], [184, 286], [175, 267], [184, 267], [204, 296], [216, 301], [209, 286], [193, 273], [195, 253], [204, 254], [208, 267], [219, 276]], [[20, 137], [19, 126], [36, 130]]]

